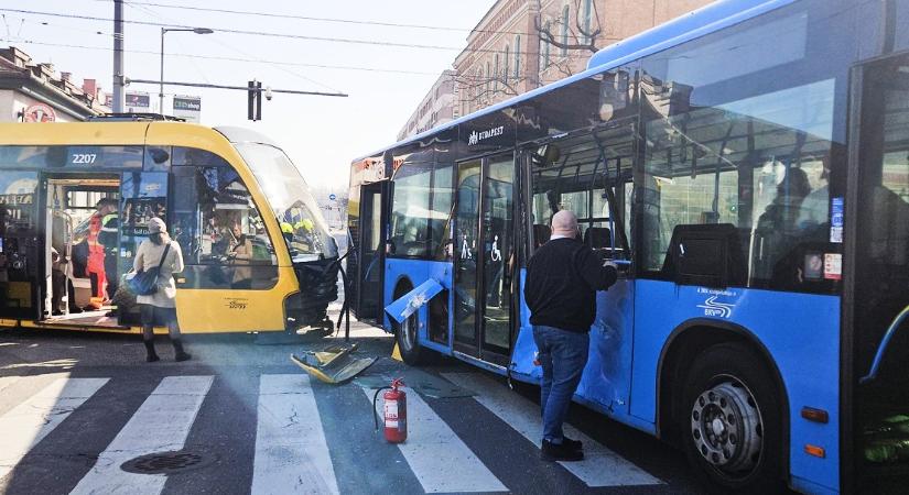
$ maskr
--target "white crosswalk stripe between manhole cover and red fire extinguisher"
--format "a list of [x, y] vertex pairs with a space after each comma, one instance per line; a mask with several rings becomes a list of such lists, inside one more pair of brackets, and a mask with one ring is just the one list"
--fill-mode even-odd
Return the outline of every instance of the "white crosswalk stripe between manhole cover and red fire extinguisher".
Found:
[[310, 377], [262, 375], [258, 411], [252, 494], [337, 494]]

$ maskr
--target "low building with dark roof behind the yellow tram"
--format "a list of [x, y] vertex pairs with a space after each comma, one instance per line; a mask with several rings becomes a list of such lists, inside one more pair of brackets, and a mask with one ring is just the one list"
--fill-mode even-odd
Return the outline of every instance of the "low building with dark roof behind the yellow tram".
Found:
[[36, 64], [21, 50], [0, 50], [0, 122], [78, 122], [109, 112], [95, 79], [82, 86], [71, 73]]

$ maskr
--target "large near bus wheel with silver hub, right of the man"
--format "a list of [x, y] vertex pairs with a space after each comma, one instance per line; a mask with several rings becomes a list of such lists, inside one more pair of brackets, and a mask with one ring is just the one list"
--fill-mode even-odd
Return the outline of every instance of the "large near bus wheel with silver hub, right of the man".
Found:
[[764, 362], [738, 343], [704, 350], [685, 375], [678, 418], [682, 448], [717, 492], [782, 490], [779, 392]]

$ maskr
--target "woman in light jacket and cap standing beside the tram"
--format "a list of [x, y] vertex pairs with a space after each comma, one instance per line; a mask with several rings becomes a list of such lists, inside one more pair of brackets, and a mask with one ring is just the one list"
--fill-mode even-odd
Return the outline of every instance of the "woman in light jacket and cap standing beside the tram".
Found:
[[[166, 254], [165, 254], [166, 251]], [[137, 296], [142, 312], [142, 338], [148, 355], [145, 361], [158, 361], [154, 352], [154, 326], [167, 326], [171, 342], [174, 344], [174, 359], [186, 361], [192, 358], [183, 350], [180, 341], [180, 327], [176, 323], [176, 285], [173, 274], [183, 272], [183, 253], [180, 244], [171, 241], [167, 226], [160, 218], [149, 221], [149, 239], [143, 241], [136, 252], [133, 270], [144, 272], [161, 264], [158, 275], [158, 290], [150, 296]]]

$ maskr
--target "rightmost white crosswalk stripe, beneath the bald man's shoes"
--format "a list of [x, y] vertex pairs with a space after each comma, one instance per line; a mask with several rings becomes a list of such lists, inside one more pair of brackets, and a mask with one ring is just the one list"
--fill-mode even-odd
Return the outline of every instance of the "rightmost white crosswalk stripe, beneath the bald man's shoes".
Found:
[[[540, 407], [537, 404], [518, 394], [510, 393], [502, 385], [477, 373], [443, 373], [442, 375], [457, 386], [476, 392], [477, 395], [474, 396], [474, 399], [538, 448], [540, 447], [542, 420], [540, 418]], [[587, 486], [656, 485], [662, 483], [571, 425], [565, 424], [563, 429], [566, 436], [584, 442], [584, 460], [580, 462], [561, 462], [560, 464], [586, 483]]]

